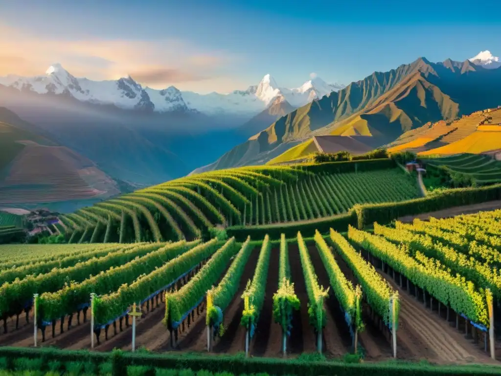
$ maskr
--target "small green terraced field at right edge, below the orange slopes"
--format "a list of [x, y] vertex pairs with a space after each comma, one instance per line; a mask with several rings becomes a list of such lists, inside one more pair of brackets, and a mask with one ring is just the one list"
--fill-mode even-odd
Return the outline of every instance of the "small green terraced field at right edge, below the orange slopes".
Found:
[[487, 155], [459, 154], [424, 160], [427, 165], [446, 166], [453, 171], [471, 175], [479, 185], [501, 181], [501, 161]]

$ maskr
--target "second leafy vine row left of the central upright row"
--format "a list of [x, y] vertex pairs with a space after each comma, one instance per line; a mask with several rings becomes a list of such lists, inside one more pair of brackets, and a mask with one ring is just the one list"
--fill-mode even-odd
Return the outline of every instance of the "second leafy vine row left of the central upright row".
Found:
[[210, 323], [214, 322], [217, 318], [215, 306], [219, 307], [224, 312], [233, 299], [233, 296], [238, 291], [243, 271], [245, 270], [252, 250], [253, 246], [250, 244], [249, 236], [242, 244], [240, 251], [234, 258], [221, 282], [219, 282], [216, 287], [212, 286], [212, 288], [207, 291], [207, 325], [210, 325]]

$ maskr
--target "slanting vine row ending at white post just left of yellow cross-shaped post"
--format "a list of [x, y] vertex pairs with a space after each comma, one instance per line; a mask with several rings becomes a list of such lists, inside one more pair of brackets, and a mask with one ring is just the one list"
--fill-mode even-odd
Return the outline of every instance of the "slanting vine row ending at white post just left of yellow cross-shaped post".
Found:
[[217, 240], [197, 245], [175, 259], [139, 277], [131, 284], [122, 284], [117, 291], [94, 300], [96, 324], [104, 324], [120, 316], [134, 302], [139, 303], [156, 291], [174, 282], [217, 250]]

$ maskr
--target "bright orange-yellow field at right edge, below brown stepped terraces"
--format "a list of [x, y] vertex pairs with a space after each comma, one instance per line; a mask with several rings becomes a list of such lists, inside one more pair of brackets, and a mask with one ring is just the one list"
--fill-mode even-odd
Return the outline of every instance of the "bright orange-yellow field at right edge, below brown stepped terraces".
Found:
[[462, 138], [458, 141], [452, 142], [448, 145], [437, 147], [427, 151], [422, 151], [418, 155], [432, 155], [432, 154], [459, 154], [471, 153], [479, 154], [486, 151], [499, 149], [501, 145], [501, 132], [499, 131], [476, 131], [469, 136]]

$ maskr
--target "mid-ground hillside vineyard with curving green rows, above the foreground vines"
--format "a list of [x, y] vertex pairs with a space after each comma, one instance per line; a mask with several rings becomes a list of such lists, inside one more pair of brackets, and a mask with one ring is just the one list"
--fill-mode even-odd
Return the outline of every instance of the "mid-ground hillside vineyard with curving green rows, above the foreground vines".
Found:
[[418, 196], [415, 179], [390, 159], [241, 167], [104, 201], [61, 216], [56, 228], [71, 233], [70, 243], [193, 240], [217, 225], [307, 221], [346, 213], [355, 204]]

